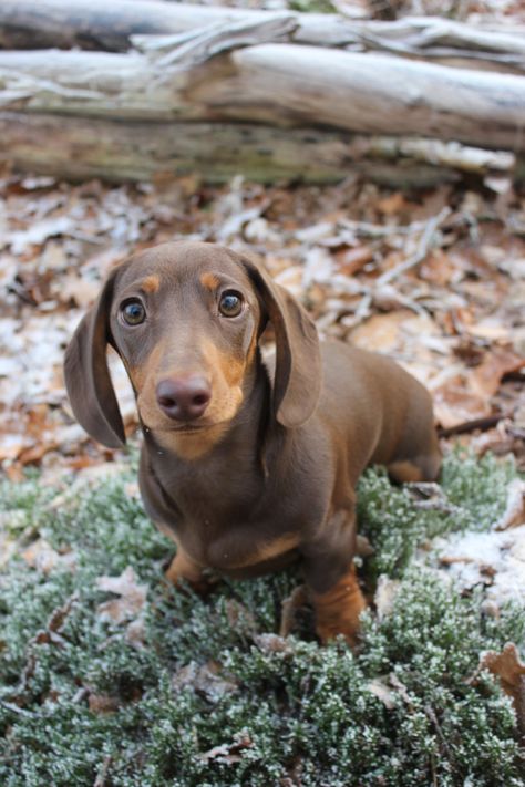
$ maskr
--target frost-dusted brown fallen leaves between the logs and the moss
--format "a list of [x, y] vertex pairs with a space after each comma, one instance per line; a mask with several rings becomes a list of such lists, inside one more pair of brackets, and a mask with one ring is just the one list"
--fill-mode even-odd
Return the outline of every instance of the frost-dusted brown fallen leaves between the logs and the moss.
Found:
[[[72, 417], [64, 348], [114, 265], [182, 237], [262, 258], [323, 336], [388, 352], [422, 380], [442, 427], [503, 414], [506, 439], [516, 432], [525, 410], [517, 194], [502, 218], [494, 195], [444, 186], [406, 196], [352, 177], [286, 189], [240, 177], [213, 188], [196, 178], [111, 187], [9, 176], [0, 200], [0, 462], [13, 478], [28, 464], [80, 468], [114, 456]], [[117, 360], [112, 371], [133, 433], [133, 393]], [[502, 442], [494, 429], [491, 438]], [[524, 460], [517, 442], [511, 449]]]

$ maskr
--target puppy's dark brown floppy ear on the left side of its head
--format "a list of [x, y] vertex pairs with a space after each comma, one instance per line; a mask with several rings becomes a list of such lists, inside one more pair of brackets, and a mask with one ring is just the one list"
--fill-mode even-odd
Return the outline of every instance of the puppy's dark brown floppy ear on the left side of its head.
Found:
[[109, 448], [120, 448], [126, 442], [106, 359], [110, 310], [119, 271], [115, 268], [110, 273], [99, 299], [82, 318], [64, 361], [65, 387], [76, 420], [91, 437]]

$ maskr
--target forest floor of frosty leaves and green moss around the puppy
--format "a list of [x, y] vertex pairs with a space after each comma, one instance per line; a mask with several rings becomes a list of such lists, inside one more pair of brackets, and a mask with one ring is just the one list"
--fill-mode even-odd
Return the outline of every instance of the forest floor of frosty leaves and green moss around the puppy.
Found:
[[[519, 2], [467, 7], [501, 21]], [[356, 653], [319, 646], [308, 604], [282, 619], [296, 570], [206, 599], [166, 588], [173, 545], [140, 501], [116, 358], [128, 447], [103, 448], [72, 416], [64, 349], [101, 281], [178, 238], [257, 256], [321, 338], [387, 353], [432, 394], [440, 484], [392, 487], [380, 469], [360, 484], [370, 610]], [[2, 784], [524, 784], [525, 196], [511, 180], [4, 173], [0, 293]]]

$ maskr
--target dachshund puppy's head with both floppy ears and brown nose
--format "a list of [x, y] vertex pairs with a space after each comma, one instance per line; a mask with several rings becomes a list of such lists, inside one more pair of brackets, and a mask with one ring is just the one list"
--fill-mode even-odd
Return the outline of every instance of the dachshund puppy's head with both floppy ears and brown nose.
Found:
[[192, 454], [192, 445], [216, 442], [239, 412], [268, 320], [276, 335], [272, 412], [284, 426], [298, 426], [320, 389], [317, 331], [299, 303], [255, 262], [214, 244], [172, 242], [136, 255], [111, 271], [68, 348], [73, 412], [104, 445], [125, 442], [106, 362], [111, 344], [144, 428]]

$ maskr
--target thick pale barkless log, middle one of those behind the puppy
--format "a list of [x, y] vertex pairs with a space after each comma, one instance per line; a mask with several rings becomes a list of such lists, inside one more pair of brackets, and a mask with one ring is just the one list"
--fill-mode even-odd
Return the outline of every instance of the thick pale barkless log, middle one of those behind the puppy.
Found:
[[136, 121], [317, 125], [525, 148], [522, 76], [294, 44], [248, 46], [189, 70], [171, 56], [0, 52], [0, 107]]

